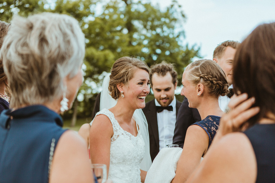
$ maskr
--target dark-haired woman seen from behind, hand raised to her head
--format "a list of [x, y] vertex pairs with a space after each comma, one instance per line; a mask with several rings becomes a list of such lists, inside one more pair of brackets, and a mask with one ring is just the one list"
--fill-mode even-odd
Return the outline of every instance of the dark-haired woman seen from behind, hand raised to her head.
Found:
[[239, 95], [188, 182], [275, 182], [274, 50], [275, 23], [259, 25], [240, 44], [233, 65]]

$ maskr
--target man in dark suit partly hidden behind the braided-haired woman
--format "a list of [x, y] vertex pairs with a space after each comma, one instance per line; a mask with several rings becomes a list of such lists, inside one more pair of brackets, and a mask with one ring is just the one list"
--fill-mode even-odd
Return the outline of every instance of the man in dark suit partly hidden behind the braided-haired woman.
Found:
[[[230, 97], [233, 95], [233, 85], [232, 85], [232, 73], [233, 73], [233, 61], [237, 46], [239, 45], [238, 41], [224, 41], [219, 44], [213, 53], [213, 61], [218, 63], [218, 65], [222, 68], [222, 70], [226, 74], [226, 79], [229, 86], [230, 93], [228, 96], [220, 96], [219, 97], [219, 106], [225, 111], [228, 102], [230, 101]], [[186, 135], [187, 128], [197, 122], [200, 121], [200, 114], [197, 109], [189, 108], [189, 103], [186, 98], [184, 98], [182, 102], [182, 106], [179, 109], [177, 121], [175, 124], [175, 131], [173, 137], [173, 144], [178, 144], [179, 147], [183, 147], [184, 139]]]

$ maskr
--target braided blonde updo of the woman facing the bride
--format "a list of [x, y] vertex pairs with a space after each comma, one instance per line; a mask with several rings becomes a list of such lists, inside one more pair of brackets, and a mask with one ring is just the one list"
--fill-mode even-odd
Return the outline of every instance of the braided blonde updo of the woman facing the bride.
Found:
[[194, 85], [199, 83], [208, 88], [209, 94], [215, 97], [226, 95], [229, 84], [222, 68], [213, 60], [197, 60], [190, 63], [185, 70], [189, 70], [187, 80]]

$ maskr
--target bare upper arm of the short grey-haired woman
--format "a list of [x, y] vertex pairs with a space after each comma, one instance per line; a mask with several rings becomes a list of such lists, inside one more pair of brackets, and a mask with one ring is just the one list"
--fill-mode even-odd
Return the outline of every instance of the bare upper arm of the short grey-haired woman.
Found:
[[84, 140], [75, 131], [65, 131], [54, 151], [49, 182], [94, 182]]

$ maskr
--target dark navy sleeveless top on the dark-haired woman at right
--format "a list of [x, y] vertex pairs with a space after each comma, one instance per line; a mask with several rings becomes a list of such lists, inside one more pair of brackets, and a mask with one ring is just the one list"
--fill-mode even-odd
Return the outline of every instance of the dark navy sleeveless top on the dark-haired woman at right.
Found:
[[256, 183], [274, 183], [275, 124], [255, 124], [244, 134], [249, 138], [257, 160]]

